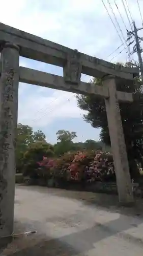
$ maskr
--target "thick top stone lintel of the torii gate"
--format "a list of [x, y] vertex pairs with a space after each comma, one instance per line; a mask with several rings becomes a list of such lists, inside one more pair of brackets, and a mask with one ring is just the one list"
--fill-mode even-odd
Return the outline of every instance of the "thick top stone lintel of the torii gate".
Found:
[[[60, 67], [65, 67], [67, 59], [75, 52], [68, 47], [0, 23], [0, 45], [4, 42], [18, 45], [20, 56]], [[122, 67], [77, 51], [76, 55], [83, 74], [99, 78], [113, 75], [127, 80], [133, 80], [139, 74], [138, 68]]]

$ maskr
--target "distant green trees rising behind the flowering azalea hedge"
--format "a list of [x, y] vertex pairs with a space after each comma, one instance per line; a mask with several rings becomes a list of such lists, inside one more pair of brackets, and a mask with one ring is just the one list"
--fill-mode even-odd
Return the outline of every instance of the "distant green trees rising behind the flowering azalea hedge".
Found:
[[16, 171], [23, 172], [27, 164], [29, 168], [35, 168], [37, 162], [46, 157], [60, 157], [67, 152], [96, 151], [102, 150], [104, 144], [101, 141], [86, 140], [85, 142], [73, 142], [77, 137], [76, 132], [59, 130], [57, 133], [57, 143], [50, 144], [46, 141], [45, 134], [28, 125], [18, 123], [16, 138]]

